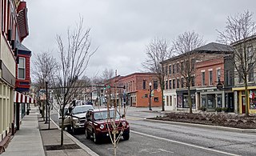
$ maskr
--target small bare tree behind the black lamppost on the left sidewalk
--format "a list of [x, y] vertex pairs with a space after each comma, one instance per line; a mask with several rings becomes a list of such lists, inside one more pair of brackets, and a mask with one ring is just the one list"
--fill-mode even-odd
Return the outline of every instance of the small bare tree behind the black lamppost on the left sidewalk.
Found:
[[[49, 52], [41, 52], [35, 54], [35, 60], [31, 69], [36, 89], [46, 88], [46, 77], [50, 78], [58, 71], [58, 62]], [[42, 118], [44, 118], [44, 104], [39, 101], [42, 106]]]

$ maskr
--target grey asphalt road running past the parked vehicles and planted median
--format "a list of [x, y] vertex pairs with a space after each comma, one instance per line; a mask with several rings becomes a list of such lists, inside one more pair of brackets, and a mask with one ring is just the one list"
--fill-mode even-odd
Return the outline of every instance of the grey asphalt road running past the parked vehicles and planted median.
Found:
[[[256, 135], [143, 120], [161, 115], [130, 108], [130, 140], [118, 143], [118, 155], [255, 155]], [[99, 155], [113, 155], [110, 141], [95, 145], [84, 134], [75, 138]]]

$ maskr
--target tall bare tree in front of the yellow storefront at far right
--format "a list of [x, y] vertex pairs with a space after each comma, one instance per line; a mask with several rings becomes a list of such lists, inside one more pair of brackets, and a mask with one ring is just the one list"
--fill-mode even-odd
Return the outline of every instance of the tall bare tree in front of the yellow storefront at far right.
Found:
[[[250, 38], [256, 34], [256, 24], [253, 13], [245, 11], [242, 14], [229, 16], [226, 19], [224, 31], [218, 31], [218, 41], [234, 47], [234, 68], [239, 78], [242, 78], [246, 93], [246, 116], [249, 116], [248, 76], [254, 71], [256, 63], [255, 47]], [[250, 48], [249, 48], [250, 47]]]

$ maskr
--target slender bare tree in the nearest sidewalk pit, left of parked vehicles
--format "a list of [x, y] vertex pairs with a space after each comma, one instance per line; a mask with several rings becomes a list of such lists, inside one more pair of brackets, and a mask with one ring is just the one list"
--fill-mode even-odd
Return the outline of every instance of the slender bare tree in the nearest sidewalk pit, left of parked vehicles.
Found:
[[80, 82], [78, 78], [85, 73], [90, 57], [96, 50], [90, 50], [90, 29], [84, 29], [83, 18], [80, 18], [74, 30], [67, 30], [66, 45], [63, 38], [57, 35], [58, 53], [61, 58], [61, 66], [56, 78], [52, 79], [53, 87], [58, 88], [55, 92], [62, 117], [61, 146], [63, 145], [63, 122], [65, 118], [65, 107], [72, 100], [73, 94], [78, 92]]

